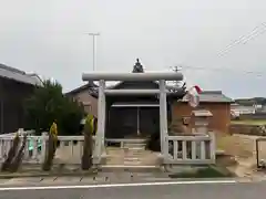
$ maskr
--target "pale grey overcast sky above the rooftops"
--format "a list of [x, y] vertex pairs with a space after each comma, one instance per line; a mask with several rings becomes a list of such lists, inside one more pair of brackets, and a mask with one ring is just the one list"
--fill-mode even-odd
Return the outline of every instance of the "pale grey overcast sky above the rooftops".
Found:
[[266, 96], [265, 10], [265, 0], [8, 0], [0, 63], [71, 91], [93, 70], [88, 33], [99, 32], [95, 71], [131, 72], [139, 57], [145, 71], [182, 66], [188, 86]]

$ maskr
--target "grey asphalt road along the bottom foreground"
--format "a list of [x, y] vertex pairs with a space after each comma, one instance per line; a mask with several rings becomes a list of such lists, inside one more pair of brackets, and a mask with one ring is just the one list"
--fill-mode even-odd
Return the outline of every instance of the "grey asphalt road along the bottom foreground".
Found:
[[195, 185], [132, 185], [106, 187], [23, 187], [3, 190], [0, 199], [262, 199], [266, 182], [195, 184]]

